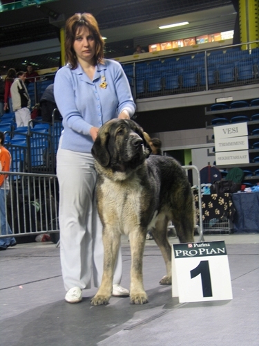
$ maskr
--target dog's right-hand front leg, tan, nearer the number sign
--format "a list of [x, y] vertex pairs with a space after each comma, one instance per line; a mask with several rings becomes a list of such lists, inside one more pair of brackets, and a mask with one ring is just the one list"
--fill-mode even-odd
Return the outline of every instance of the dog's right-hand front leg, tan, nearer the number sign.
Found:
[[131, 244], [131, 304], [145, 304], [148, 296], [143, 285], [143, 254], [146, 233], [133, 230], [129, 235]]

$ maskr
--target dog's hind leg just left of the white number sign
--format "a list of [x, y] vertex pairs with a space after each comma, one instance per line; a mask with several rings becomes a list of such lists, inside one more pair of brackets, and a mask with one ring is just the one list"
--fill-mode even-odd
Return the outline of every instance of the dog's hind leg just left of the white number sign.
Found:
[[160, 280], [160, 284], [171, 284], [172, 283], [172, 267], [171, 267], [171, 256], [172, 250], [167, 238], [167, 224], [168, 221], [164, 215], [159, 215], [155, 224], [155, 229], [152, 230], [153, 237], [157, 246], [160, 248], [164, 262], [166, 264], [166, 275]]

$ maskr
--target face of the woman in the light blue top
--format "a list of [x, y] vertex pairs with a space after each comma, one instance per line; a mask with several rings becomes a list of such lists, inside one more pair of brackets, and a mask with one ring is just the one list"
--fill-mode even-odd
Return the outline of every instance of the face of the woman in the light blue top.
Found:
[[95, 56], [95, 45], [95, 37], [93, 36], [93, 33], [86, 28], [86, 26], [79, 27], [73, 44], [77, 60], [79, 62], [83, 60], [92, 63], [93, 57]]

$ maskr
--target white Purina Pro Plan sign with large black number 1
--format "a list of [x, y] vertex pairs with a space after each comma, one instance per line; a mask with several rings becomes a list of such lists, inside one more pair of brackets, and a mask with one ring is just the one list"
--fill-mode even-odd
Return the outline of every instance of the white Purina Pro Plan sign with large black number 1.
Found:
[[173, 244], [173, 297], [179, 302], [233, 298], [224, 241]]

